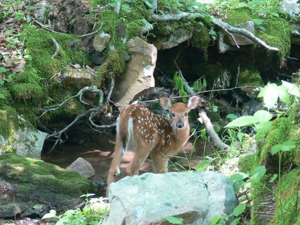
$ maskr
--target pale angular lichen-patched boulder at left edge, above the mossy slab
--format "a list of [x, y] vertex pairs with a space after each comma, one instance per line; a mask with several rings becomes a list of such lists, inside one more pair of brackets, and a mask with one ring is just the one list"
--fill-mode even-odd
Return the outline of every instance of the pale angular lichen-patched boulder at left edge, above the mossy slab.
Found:
[[[18, 118], [20, 123], [25, 123], [22, 117], [18, 116]], [[0, 134], [0, 146], [12, 148], [17, 154], [24, 157], [41, 159], [41, 152], [46, 136], [47, 133], [29, 127], [18, 128], [17, 131], [13, 131], [13, 138], [9, 140]]]

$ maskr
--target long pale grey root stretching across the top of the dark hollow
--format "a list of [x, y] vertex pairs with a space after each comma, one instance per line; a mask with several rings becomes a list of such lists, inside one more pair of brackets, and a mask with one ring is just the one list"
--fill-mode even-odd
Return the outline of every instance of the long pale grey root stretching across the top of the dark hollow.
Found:
[[[241, 34], [241, 35], [244, 35], [246, 38], [249, 38], [250, 40], [252, 40], [255, 44], [263, 46], [264, 48], [266, 48], [270, 51], [276, 51], [276, 52], [279, 51], [278, 48], [267, 45], [264, 41], [257, 38], [255, 35], [253, 35], [250, 31], [248, 31], [246, 29], [232, 27], [228, 23], [220, 21], [219, 19], [216, 19], [214, 16], [210, 16], [210, 17], [211, 17], [211, 23], [220, 27], [227, 34], [228, 33]], [[179, 11], [178, 13], [170, 13], [170, 14], [164, 14], [164, 15], [158, 15], [158, 14], [151, 15], [151, 20], [156, 21], [156, 22], [170, 21], [170, 20], [178, 21], [183, 18], [200, 18], [201, 20], [204, 20], [204, 16], [201, 13], [186, 13], [186, 12], [182, 12], [182, 11]], [[233, 36], [231, 36], [231, 37], [233, 37]], [[234, 37], [233, 37], [233, 40], [235, 41]], [[236, 42], [235, 42], [235, 44], [236, 44]], [[237, 44], [236, 44], [236, 46], [237, 46]]]

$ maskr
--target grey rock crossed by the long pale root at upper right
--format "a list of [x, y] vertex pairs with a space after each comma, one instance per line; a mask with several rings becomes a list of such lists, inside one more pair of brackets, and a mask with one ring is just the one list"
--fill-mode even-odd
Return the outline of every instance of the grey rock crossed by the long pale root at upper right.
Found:
[[[250, 31], [254, 35], [254, 22], [253, 21], [247, 21], [245, 23], [241, 23], [236, 25], [238, 28], [244, 28], [248, 31]], [[244, 35], [240, 34], [232, 34], [235, 38], [235, 41], [238, 45], [250, 45], [254, 44], [252, 40], [249, 38], [246, 38]], [[229, 44], [229, 45], [235, 45], [233, 39], [228, 36], [227, 34], [224, 36], [224, 43]]]

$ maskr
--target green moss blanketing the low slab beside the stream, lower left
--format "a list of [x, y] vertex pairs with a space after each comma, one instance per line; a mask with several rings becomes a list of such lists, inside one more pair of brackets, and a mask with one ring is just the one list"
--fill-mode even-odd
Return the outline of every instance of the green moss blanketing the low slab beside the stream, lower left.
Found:
[[[55, 178], [43, 175], [52, 175]], [[21, 184], [18, 190], [22, 191], [18, 192], [21, 195], [24, 192], [32, 191], [31, 188], [47, 190], [52, 194], [65, 194], [70, 197], [91, 193], [93, 190], [91, 181], [75, 171], [64, 170], [42, 160], [24, 158], [16, 154], [1, 156], [0, 177]]]

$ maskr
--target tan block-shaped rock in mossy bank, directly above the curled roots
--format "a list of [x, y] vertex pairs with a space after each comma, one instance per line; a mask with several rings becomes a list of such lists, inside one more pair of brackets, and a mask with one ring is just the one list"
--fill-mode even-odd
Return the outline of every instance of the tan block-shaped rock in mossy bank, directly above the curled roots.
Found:
[[62, 77], [60, 76], [58, 79], [62, 80], [66, 84], [74, 85], [81, 89], [92, 84], [93, 76], [95, 76], [95, 74], [87, 69], [67, 67]]

